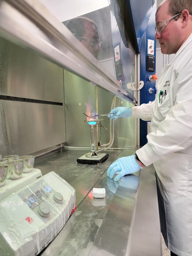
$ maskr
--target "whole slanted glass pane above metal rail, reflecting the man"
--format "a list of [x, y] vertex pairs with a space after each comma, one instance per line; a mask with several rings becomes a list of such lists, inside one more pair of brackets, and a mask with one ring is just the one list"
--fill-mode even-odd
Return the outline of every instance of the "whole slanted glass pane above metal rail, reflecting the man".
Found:
[[[105, 68], [120, 81], [119, 86], [134, 95], [135, 37], [124, 1], [71, 0], [64, 3], [63, 0], [58, 0], [57, 5], [49, 0], [40, 1], [99, 62], [105, 63]], [[111, 68], [112, 62], [114, 70]]]

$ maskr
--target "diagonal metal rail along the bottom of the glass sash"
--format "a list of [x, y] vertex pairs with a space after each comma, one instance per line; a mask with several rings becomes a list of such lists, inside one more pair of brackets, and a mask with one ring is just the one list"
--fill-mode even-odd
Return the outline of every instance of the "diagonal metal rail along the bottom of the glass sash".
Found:
[[0, 35], [137, 105], [135, 97], [38, 0], [0, 0]]

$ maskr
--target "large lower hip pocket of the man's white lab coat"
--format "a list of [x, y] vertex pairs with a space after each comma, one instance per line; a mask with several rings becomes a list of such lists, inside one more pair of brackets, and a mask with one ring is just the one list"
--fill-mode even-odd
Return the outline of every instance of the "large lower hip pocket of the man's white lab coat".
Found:
[[189, 181], [189, 155], [173, 153], [167, 159], [158, 160], [155, 164], [157, 175], [163, 189], [182, 196], [187, 196]]

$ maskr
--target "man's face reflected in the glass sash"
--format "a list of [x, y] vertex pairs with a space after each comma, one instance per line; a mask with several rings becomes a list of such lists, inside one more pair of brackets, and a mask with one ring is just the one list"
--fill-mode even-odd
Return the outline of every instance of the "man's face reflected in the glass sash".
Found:
[[83, 35], [84, 40], [82, 40], [81, 43], [97, 59], [98, 52], [101, 50], [101, 47], [99, 46], [98, 29], [88, 20], [84, 22], [84, 28], [86, 32]]

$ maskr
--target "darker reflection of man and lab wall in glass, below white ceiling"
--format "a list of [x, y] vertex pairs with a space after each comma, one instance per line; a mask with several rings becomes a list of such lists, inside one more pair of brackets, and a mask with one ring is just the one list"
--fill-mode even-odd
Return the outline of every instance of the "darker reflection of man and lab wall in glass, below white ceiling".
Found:
[[[127, 48], [110, 6], [106, 6], [63, 22], [75, 37], [91, 52], [118, 81], [133, 94], [135, 84], [135, 53]], [[102, 41], [102, 44], [101, 44]], [[116, 49], [119, 49], [117, 52]], [[114, 67], [114, 71], [111, 68]], [[131, 86], [127, 86], [131, 84]]]

